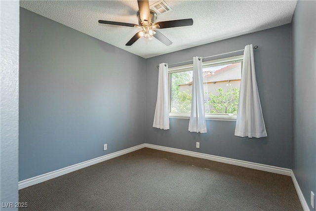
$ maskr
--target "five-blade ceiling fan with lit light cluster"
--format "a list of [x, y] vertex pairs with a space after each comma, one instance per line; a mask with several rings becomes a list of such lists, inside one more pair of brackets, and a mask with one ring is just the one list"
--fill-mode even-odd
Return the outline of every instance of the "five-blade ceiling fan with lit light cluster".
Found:
[[192, 26], [193, 19], [181, 19], [181, 20], [172, 20], [172, 21], [162, 21], [157, 22], [157, 13], [154, 10], [149, 8], [149, 1], [148, 0], [137, 0], [138, 8], [136, 15], [138, 18], [137, 24], [132, 23], [122, 23], [122, 22], [115, 22], [115, 21], [105, 21], [99, 20], [99, 23], [102, 24], [111, 24], [111, 25], [118, 25], [118, 26], [128, 26], [128, 27], [138, 27], [142, 28], [142, 31], [137, 32], [132, 39], [130, 39], [125, 45], [130, 46], [134, 42], [136, 42], [139, 38], [144, 37], [146, 39], [151, 40], [153, 37], [156, 38], [158, 41], [164, 43], [165, 45], [170, 45], [172, 42], [166, 38], [163, 34], [161, 34], [156, 29], [165, 29], [165, 28], [173, 28], [173, 27], [181, 27], [181, 26]]

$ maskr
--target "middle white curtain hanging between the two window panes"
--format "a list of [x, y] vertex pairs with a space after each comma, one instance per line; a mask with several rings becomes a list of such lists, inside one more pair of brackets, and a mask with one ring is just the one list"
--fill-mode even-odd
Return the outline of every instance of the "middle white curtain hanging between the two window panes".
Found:
[[206, 132], [202, 57], [193, 57], [192, 104], [189, 131], [200, 133]]

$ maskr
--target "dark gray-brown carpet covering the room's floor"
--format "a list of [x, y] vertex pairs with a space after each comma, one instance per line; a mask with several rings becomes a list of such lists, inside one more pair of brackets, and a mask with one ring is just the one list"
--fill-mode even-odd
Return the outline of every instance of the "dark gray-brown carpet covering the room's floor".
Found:
[[289, 176], [148, 148], [21, 189], [19, 201], [32, 211], [303, 210]]

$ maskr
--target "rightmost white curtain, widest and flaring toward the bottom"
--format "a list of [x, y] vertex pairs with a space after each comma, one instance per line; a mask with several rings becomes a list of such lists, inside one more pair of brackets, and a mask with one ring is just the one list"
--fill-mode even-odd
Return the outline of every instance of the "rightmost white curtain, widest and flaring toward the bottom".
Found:
[[267, 136], [256, 80], [252, 44], [246, 45], [243, 53], [235, 135], [249, 138]]

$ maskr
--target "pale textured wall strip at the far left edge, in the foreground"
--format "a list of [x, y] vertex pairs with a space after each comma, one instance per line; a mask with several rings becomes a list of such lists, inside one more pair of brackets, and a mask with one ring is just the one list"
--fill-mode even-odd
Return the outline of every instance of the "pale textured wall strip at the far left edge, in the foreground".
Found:
[[19, 1], [0, 1], [0, 13], [0, 210], [5, 211], [18, 210]]

